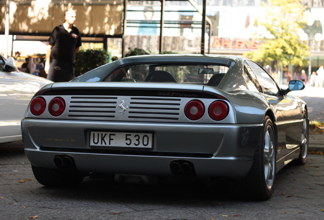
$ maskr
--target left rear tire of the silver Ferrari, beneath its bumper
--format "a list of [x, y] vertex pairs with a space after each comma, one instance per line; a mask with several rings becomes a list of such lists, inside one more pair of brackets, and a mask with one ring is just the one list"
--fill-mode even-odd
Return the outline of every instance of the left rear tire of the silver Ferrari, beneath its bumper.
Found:
[[85, 178], [85, 175], [78, 171], [35, 167], [33, 164], [32, 170], [36, 180], [44, 186], [72, 187], [80, 184]]

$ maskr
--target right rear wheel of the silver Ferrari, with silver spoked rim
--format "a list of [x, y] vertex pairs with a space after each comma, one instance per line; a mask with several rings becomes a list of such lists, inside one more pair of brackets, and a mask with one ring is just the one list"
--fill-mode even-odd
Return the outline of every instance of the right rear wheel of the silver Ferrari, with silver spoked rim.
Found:
[[267, 200], [271, 197], [276, 179], [276, 136], [271, 119], [265, 116], [253, 164], [249, 174], [240, 180], [243, 196], [253, 200]]

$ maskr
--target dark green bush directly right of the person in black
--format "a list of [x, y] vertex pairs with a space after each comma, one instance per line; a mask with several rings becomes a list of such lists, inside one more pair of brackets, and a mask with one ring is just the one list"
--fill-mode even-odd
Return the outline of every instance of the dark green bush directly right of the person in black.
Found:
[[75, 56], [75, 77], [108, 63], [109, 56], [105, 49], [80, 50]]

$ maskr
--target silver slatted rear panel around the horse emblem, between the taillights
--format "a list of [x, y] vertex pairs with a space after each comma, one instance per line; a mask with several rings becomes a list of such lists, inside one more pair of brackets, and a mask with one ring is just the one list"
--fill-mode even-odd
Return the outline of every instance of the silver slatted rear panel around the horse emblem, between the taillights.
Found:
[[[124, 101], [121, 111], [118, 107]], [[180, 98], [127, 97], [127, 96], [72, 96], [69, 102], [68, 117], [80, 119], [106, 120], [123, 117], [123, 120], [179, 120]], [[121, 114], [122, 113], [122, 114]], [[125, 115], [124, 115], [125, 114]]]

